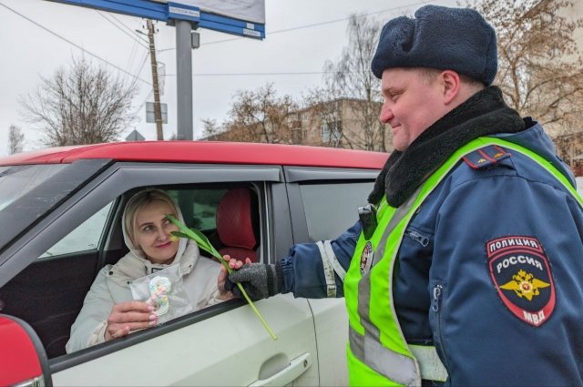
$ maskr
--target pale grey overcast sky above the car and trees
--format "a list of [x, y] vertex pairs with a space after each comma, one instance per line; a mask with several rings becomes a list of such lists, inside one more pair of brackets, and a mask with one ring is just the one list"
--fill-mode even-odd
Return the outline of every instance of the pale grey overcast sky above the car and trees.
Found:
[[[455, 6], [456, 1], [265, 0], [266, 38], [262, 41], [199, 29], [201, 46], [192, 54], [194, 138], [201, 135], [201, 119], [224, 120], [238, 90], [273, 83], [280, 96], [300, 97], [319, 86], [324, 62], [342, 53], [351, 14], [368, 14], [384, 22], [396, 15], [412, 15], [425, 4]], [[0, 156], [8, 153], [7, 131], [13, 124], [25, 133], [25, 150], [42, 148], [40, 133], [21, 115], [19, 99], [36, 89], [40, 76], [51, 76], [59, 66], [69, 66], [72, 57], [81, 56], [77, 46], [91, 53], [85, 56], [92, 62], [114, 74], [127, 79], [131, 74], [145, 81], [138, 82], [134, 100], [138, 122], [122, 138], [138, 129], [147, 139], [155, 139], [156, 126], [145, 122], [143, 107], [146, 100], [153, 100], [147, 36], [132, 33], [145, 31], [144, 26], [138, 17], [74, 5], [0, 0]], [[176, 35], [174, 27], [158, 23], [157, 28], [158, 60], [168, 75], [161, 97], [169, 106], [169, 123], [164, 126], [168, 138], [176, 132]], [[140, 39], [143, 42], [138, 43]]]

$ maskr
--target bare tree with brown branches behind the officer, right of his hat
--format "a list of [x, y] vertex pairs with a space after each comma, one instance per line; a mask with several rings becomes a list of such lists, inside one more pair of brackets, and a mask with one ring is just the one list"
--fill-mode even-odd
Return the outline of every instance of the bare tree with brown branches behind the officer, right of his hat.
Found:
[[508, 104], [565, 133], [583, 117], [583, 59], [568, 20], [574, 0], [482, 0], [476, 9], [496, 28], [498, 85]]

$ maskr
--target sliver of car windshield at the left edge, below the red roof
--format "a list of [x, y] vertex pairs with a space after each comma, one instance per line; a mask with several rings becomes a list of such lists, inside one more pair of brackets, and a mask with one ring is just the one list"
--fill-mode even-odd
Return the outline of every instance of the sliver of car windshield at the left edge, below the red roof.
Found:
[[66, 166], [45, 164], [0, 167], [0, 211]]

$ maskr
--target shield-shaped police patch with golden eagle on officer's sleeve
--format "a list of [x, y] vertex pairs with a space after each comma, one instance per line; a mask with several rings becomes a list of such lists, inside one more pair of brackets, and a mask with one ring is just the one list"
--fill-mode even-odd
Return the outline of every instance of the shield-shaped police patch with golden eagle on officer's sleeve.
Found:
[[486, 242], [490, 276], [508, 310], [539, 327], [555, 309], [555, 285], [537, 238], [507, 236]]

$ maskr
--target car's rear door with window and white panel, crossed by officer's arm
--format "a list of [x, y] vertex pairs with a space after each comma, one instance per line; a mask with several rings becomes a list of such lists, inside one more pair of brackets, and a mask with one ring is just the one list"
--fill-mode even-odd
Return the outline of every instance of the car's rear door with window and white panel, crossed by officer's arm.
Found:
[[[335, 239], [358, 219], [377, 169], [285, 167], [294, 243]], [[343, 299], [308, 300], [314, 317], [321, 385], [348, 385], [348, 315]]]

